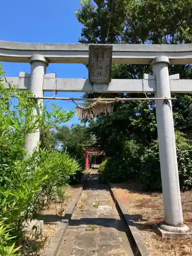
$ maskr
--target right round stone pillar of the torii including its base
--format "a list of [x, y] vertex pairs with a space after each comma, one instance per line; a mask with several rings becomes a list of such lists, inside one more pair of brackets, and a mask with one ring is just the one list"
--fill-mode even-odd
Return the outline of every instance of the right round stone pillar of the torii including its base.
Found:
[[[168, 57], [156, 57], [151, 64], [156, 77], [156, 97], [170, 98]], [[162, 237], [172, 238], [190, 230], [183, 223], [172, 101], [165, 104], [156, 100], [156, 115], [165, 217], [159, 231]]]

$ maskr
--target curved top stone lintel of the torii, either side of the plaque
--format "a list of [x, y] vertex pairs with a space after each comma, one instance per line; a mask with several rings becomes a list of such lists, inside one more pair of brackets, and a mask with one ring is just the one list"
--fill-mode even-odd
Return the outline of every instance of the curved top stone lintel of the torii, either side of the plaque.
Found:
[[[50, 63], [88, 63], [89, 44], [31, 44], [0, 41], [0, 61], [29, 62], [31, 55], [44, 55]], [[166, 55], [171, 64], [191, 64], [192, 44], [113, 45], [113, 63], [149, 64]]]

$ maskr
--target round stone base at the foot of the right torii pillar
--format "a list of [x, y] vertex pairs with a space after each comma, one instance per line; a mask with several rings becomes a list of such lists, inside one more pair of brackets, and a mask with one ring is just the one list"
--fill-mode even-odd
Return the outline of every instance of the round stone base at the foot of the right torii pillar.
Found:
[[192, 234], [192, 230], [187, 225], [184, 225], [183, 227], [174, 227], [174, 226], [169, 226], [164, 222], [161, 222], [159, 224], [155, 224], [154, 226], [157, 233], [162, 238], [166, 238], [166, 239], [186, 237], [189, 235], [191, 236]]

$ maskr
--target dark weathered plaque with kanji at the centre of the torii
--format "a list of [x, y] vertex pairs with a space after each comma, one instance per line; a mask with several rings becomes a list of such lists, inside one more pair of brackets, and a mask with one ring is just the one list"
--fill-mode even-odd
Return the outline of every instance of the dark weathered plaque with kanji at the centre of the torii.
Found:
[[91, 83], [111, 82], [113, 46], [89, 47], [89, 80]]

